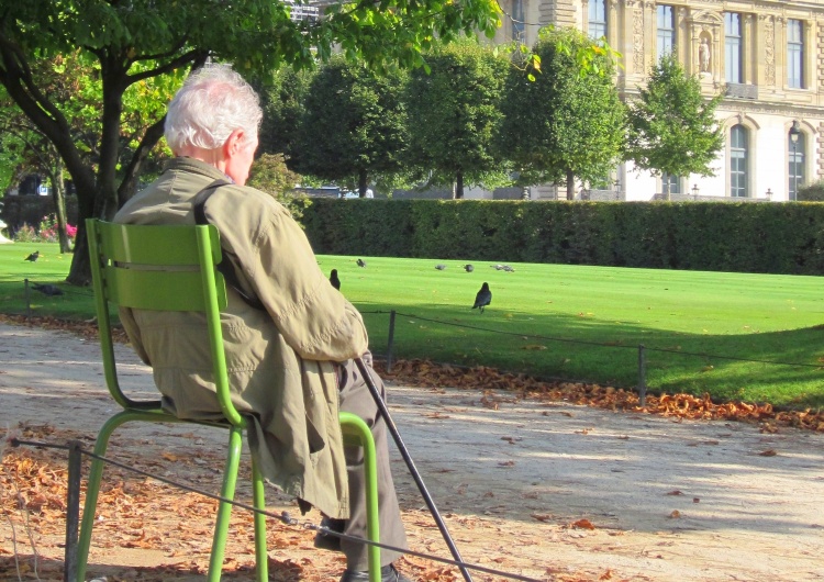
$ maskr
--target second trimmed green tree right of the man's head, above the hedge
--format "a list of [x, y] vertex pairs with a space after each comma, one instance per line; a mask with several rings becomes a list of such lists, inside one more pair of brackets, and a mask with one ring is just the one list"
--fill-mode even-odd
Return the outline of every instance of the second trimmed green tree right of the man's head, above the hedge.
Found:
[[428, 72], [412, 72], [405, 96], [410, 166], [431, 172], [432, 186], [457, 183], [456, 198], [464, 184], [500, 184], [508, 172], [493, 144], [509, 63], [465, 40], [437, 45], [426, 64]]

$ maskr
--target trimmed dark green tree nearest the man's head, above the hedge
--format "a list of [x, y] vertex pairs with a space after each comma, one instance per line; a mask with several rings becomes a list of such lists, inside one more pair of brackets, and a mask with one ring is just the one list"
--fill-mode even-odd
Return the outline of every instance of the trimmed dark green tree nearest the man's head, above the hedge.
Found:
[[313, 77], [291, 148], [290, 167], [343, 184], [361, 195], [369, 176], [400, 171], [407, 147], [401, 70], [376, 74], [334, 57]]

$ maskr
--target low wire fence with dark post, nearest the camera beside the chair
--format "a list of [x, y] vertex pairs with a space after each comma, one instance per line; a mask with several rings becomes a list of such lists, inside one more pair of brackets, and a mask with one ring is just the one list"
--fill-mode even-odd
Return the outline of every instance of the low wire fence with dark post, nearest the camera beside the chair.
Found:
[[325, 526], [313, 524], [309, 521], [296, 519], [288, 512], [281, 512], [279, 514], [276, 514], [276, 513], [268, 512], [265, 510], [258, 510], [254, 505], [249, 505], [247, 503], [238, 502], [235, 500], [230, 500], [230, 499], [223, 497], [222, 495], [216, 495], [214, 493], [203, 491], [188, 483], [182, 483], [180, 481], [176, 481], [176, 480], [169, 479], [167, 477], [163, 477], [157, 473], [152, 473], [149, 471], [137, 469], [133, 465], [121, 462], [110, 457], [96, 455], [94, 452], [83, 449], [81, 444], [78, 440], [70, 440], [67, 445], [59, 445], [55, 443], [47, 443], [47, 441], [41, 441], [41, 440], [23, 440], [19, 438], [12, 438], [10, 439], [10, 444], [12, 447], [27, 446], [27, 447], [37, 447], [37, 448], [46, 448], [46, 449], [66, 450], [68, 454], [68, 459], [67, 459], [68, 475], [67, 475], [67, 493], [66, 493], [66, 544], [65, 544], [65, 553], [64, 553], [64, 560], [65, 560], [64, 581], [65, 582], [77, 582], [76, 580], [77, 567], [78, 567], [77, 550], [78, 550], [79, 524], [80, 524], [80, 482], [81, 482], [81, 473], [82, 473], [81, 469], [82, 469], [83, 457], [88, 457], [90, 459], [98, 459], [98, 460], [103, 461], [107, 465], [111, 465], [112, 467], [118, 467], [119, 469], [123, 469], [134, 474], [155, 479], [162, 483], [179, 489], [180, 491], [186, 491], [189, 493], [203, 495], [204, 497], [218, 501], [220, 503], [231, 504], [233, 507], [236, 507], [238, 510], [243, 510], [243, 511], [252, 512], [254, 514], [260, 514], [266, 517], [270, 517], [272, 519], [280, 522], [285, 526], [300, 527], [300, 528], [316, 531], [319, 534], [323, 534], [326, 536], [333, 536], [338, 539], [356, 541], [356, 542], [365, 544], [368, 546], [376, 546], [380, 549], [397, 551], [399, 553], [403, 553], [407, 556], [414, 556], [416, 558], [423, 558], [423, 559], [431, 560], [433, 562], [443, 563], [443, 564], [455, 566], [461, 569], [461, 572], [464, 572], [464, 577], [467, 580], [467, 582], [471, 582], [471, 575], [466, 573], [466, 570], [472, 570], [476, 572], [492, 574], [492, 575], [501, 577], [508, 580], [519, 580], [523, 582], [541, 582], [541, 580], [535, 579], [535, 578], [530, 578], [530, 577], [516, 574], [513, 572], [505, 572], [503, 570], [488, 568], [488, 567], [480, 566], [477, 563], [467, 562], [465, 560], [452, 560], [449, 558], [443, 558], [443, 557], [435, 556], [432, 553], [414, 551], [414, 550], [410, 550], [405, 548], [399, 548], [397, 546], [392, 546], [389, 544], [382, 544], [378, 541], [371, 541], [369, 539], [349, 536], [347, 534], [342, 534], [333, 529], [330, 529]]

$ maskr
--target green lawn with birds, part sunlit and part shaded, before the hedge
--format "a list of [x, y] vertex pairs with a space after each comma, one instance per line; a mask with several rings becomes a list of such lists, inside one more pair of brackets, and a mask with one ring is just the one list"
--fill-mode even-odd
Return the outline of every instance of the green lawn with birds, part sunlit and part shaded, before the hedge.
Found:
[[[35, 249], [41, 259], [24, 261]], [[363, 258], [366, 268], [355, 257], [318, 260], [326, 273], [338, 270], [378, 355], [396, 310], [396, 357], [634, 387], [643, 344], [650, 392], [824, 406], [817, 277], [535, 264], [512, 264], [515, 272], [505, 272], [489, 262], [469, 273], [460, 261]], [[2, 312], [25, 312], [24, 278], [59, 284], [69, 262], [57, 245], [0, 246]], [[470, 306], [483, 281], [493, 296], [480, 314]], [[32, 293], [33, 312], [92, 316], [89, 289], [63, 289], [59, 298]]]

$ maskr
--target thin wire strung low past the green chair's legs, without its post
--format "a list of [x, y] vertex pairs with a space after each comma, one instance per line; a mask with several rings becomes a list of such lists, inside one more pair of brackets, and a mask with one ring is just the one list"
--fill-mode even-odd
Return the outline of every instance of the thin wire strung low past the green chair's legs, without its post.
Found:
[[[19, 447], [21, 445], [24, 445], [24, 446], [30, 446], [30, 447], [51, 448], [51, 449], [58, 449], [58, 450], [71, 450], [73, 449], [73, 447], [68, 446], [68, 445], [57, 445], [57, 444], [54, 444], [54, 443], [45, 443], [45, 441], [42, 441], [42, 440], [23, 440], [23, 439], [19, 439], [19, 438], [11, 438], [11, 439], [9, 439], [9, 443], [11, 444], [12, 447]], [[324, 526], [319, 526], [319, 525], [312, 524], [309, 521], [304, 521], [304, 522], [301, 523], [300, 521], [291, 517], [289, 515], [289, 512], [281, 512], [280, 514], [275, 514], [275, 513], [268, 512], [266, 510], [258, 510], [254, 505], [249, 505], [247, 503], [243, 503], [243, 502], [235, 501], [235, 500], [229, 500], [226, 497], [223, 497], [222, 495], [210, 493], [208, 491], [202, 491], [200, 489], [193, 488], [193, 486], [188, 485], [186, 483], [180, 483], [180, 482], [175, 481], [172, 479], [168, 479], [166, 477], [157, 475], [157, 474], [151, 473], [148, 471], [144, 471], [143, 469], [137, 469], [134, 466], [130, 466], [130, 465], [125, 465], [125, 463], [120, 462], [120, 461], [115, 461], [114, 459], [111, 459], [109, 457], [104, 457], [104, 456], [101, 456], [101, 455], [96, 455], [94, 452], [88, 451], [88, 450], [83, 449], [82, 447], [79, 447], [79, 452], [81, 455], [86, 455], [87, 457], [90, 457], [92, 459], [101, 460], [101, 461], [103, 461], [105, 463], [109, 463], [109, 465], [111, 465], [113, 467], [118, 467], [118, 468], [123, 469], [125, 471], [131, 471], [131, 472], [140, 474], [142, 477], [148, 477], [151, 479], [155, 479], [155, 480], [157, 480], [157, 481], [159, 481], [162, 483], [166, 483], [167, 485], [171, 485], [171, 486], [174, 486], [176, 489], [180, 489], [182, 491], [188, 491], [189, 493], [197, 493], [199, 495], [203, 495], [204, 497], [208, 497], [208, 499], [221, 502], [221, 503], [229, 503], [233, 507], [238, 507], [241, 510], [246, 510], [248, 512], [253, 512], [253, 513], [256, 513], [256, 514], [265, 515], [267, 517], [271, 517], [272, 519], [277, 519], [280, 523], [282, 523], [285, 525], [288, 525], [288, 526], [297, 526], [297, 527], [301, 527], [303, 529], [309, 529], [309, 530], [312, 530], [312, 531], [322, 533], [324, 535], [334, 536], [334, 537], [337, 537], [339, 539], [345, 539], [345, 540], [348, 540], [348, 541], [356, 541], [356, 542], [365, 544], [365, 545], [369, 545], [369, 546], [377, 546], [378, 548], [381, 548], [381, 549], [385, 549], [385, 550], [397, 551], [399, 553], [404, 553], [404, 555], [408, 555], [408, 556], [414, 556], [416, 558], [423, 558], [423, 559], [426, 559], [426, 560], [432, 560], [434, 562], [439, 562], [439, 563], [444, 563], [444, 564], [448, 564], [448, 566], [464, 567], [464, 568], [468, 568], [470, 570], [475, 570], [475, 571], [478, 571], [478, 572], [483, 572], [486, 574], [492, 574], [492, 575], [499, 575], [499, 577], [502, 577], [502, 578], [506, 578], [509, 580], [520, 580], [522, 582], [542, 582], [541, 580], [535, 579], [535, 578], [528, 578], [528, 577], [524, 577], [524, 575], [521, 575], [521, 574], [514, 574], [514, 573], [511, 573], [511, 572], [504, 572], [502, 570], [495, 570], [495, 569], [492, 569], [492, 568], [487, 568], [485, 566], [475, 564], [475, 563], [470, 563], [470, 562], [450, 560], [448, 558], [441, 558], [439, 556], [434, 556], [434, 555], [431, 555], [431, 553], [424, 553], [424, 552], [409, 550], [409, 549], [404, 549], [404, 548], [398, 548], [398, 547], [391, 546], [389, 544], [381, 544], [379, 541], [371, 541], [371, 540], [359, 538], [359, 537], [356, 537], [356, 536], [349, 536], [347, 534], [342, 534], [339, 531], [334, 531], [334, 530], [332, 530], [332, 529], [330, 529], [327, 527], [324, 527]]]

